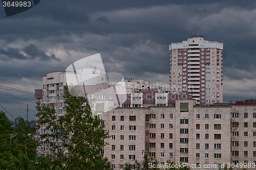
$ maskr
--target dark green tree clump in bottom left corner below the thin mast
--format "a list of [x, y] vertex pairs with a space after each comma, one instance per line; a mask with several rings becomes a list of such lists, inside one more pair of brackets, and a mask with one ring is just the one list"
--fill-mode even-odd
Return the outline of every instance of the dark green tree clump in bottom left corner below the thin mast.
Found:
[[4, 112], [0, 113], [0, 168], [1, 169], [38, 169], [36, 168], [36, 147], [33, 139], [35, 129], [22, 117], [17, 117], [16, 127], [11, 126]]

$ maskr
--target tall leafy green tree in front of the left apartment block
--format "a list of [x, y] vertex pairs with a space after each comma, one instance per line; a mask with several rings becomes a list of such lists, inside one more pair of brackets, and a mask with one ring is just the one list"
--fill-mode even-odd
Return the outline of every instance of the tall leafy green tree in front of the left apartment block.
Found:
[[109, 132], [100, 126], [99, 116], [92, 115], [90, 107], [84, 106], [86, 98], [75, 94], [66, 88], [66, 113], [60, 117], [49, 105], [37, 106], [38, 127], [45, 125], [50, 132], [41, 134], [40, 138], [51, 146], [49, 157], [53, 166], [62, 169], [110, 169], [111, 163], [100, 154], [107, 144], [104, 139], [110, 137]]

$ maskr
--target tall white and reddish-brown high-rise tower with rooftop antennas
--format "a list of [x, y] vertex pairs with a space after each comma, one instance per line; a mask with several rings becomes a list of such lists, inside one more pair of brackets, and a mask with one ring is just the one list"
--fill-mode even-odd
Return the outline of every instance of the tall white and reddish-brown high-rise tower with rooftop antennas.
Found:
[[206, 41], [196, 30], [186, 41], [169, 44], [170, 87], [200, 105], [223, 102], [223, 43]]

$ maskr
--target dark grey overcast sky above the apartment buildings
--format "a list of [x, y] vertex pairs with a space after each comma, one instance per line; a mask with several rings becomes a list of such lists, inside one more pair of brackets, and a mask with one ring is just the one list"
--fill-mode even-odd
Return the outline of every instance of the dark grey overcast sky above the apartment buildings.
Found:
[[26, 116], [28, 103], [35, 119], [42, 77], [97, 53], [106, 71], [168, 83], [168, 45], [197, 27], [224, 43], [223, 100], [255, 99], [256, 1], [62, 0], [10, 17], [0, 8], [1, 106]]

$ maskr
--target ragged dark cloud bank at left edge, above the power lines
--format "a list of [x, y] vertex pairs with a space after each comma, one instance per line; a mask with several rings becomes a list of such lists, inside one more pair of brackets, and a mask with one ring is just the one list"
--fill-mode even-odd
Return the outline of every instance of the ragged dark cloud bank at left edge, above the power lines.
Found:
[[4, 50], [3, 48], [0, 48], [0, 59], [3, 61], [10, 61], [12, 59], [34, 60], [36, 58], [39, 58], [41, 61], [60, 61], [60, 58], [56, 58], [54, 54], [49, 56], [44, 51], [39, 50], [35, 44], [29, 44], [23, 49], [7, 47], [7, 49]]

